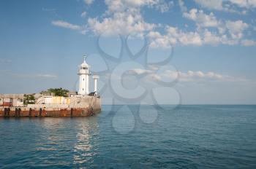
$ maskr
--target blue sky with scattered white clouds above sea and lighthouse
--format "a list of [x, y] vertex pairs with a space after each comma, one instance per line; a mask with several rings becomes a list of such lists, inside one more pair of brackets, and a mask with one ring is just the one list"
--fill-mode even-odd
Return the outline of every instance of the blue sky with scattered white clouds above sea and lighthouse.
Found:
[[255, 9], [255, 0], [1, 0], [0, 93], [78, 90], [87, 55], [104, 104], [255, 104]]

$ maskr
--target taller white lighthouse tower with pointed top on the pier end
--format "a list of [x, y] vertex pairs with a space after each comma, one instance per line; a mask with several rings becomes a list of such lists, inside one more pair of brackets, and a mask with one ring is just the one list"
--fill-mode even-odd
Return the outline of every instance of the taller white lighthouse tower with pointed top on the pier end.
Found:
[[86, 56], [83, 56], [83, 63], [79, 66], [79, 90], [78, 95], [88, 95], [89, 94], [89, 76], [90, 66], [86, 63]]

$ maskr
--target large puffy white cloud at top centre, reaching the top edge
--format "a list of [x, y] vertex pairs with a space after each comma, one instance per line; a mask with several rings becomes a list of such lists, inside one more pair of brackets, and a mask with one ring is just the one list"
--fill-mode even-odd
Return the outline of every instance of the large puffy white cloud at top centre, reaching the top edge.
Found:
[[100, 21], [96, 18], [89, 18], [89, 28], [96, 34], [132, 34], [134, 36], [143, 36], [146, 31], [151, 31], [155, 24], [146, 23], [140, 14], [140, 7], [143, 5], [153, 5], [155, 0], [106, 0], [108, 5], [106, 15]]

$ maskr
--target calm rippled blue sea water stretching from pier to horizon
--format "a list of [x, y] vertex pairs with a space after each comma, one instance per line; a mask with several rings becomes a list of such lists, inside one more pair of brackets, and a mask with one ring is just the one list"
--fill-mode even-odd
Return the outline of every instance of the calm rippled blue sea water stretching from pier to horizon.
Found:
[[0, 168], [256, 168], [256, 106], [109, 109], [0, 119]]

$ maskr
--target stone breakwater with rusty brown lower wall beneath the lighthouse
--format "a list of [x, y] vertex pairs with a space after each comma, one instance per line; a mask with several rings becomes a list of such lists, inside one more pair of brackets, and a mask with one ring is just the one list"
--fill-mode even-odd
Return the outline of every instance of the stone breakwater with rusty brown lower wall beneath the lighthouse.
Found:
[[29, 104], [23, 107], [1, 106], [0, 117], [88, 117], [101, 111], [100, 98], [72, 98], [67, 104]]

